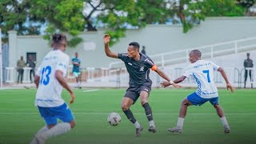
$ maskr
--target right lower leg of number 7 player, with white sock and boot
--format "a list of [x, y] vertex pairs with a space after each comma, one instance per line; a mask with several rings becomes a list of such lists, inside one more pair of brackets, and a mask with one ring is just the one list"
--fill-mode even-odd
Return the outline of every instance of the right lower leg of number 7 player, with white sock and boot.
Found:
[[222, 126], [224, 127], [224, 134], [229, 134], [230, 133], [230, 126], [229, 126], [228, 122], [226, 121], [226, 117], [225, 117], [225, 114], [222, 110], [222, 106], [219, 106], [217, 104], [217, 105], [214, 106], [214, 108], [216, 109], [216, 112], [217, 112], [219, 118], [221, 119]]

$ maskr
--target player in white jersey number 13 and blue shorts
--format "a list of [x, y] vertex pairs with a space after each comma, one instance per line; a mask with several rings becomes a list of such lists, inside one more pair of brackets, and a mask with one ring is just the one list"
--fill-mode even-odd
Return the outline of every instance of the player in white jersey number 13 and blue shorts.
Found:
[[[38, 67], [34, 82], [38, 88], [35, 106], [46, 122], [46, 126], [38, 130], [30, 143], [45, 143], [46, 139], [65, 134], [74, 128], [74, 116], [66, 102], [62, 99], [62, 87], [70, 93], [70, 104], [74, 102], [74, 93], [66, 83], [66, 70], [70, 57], [64, 53], [66, 50], [66, 36], [54, 34], [52, 47]], [[60, 119], [62, 122], [58, 123]]]

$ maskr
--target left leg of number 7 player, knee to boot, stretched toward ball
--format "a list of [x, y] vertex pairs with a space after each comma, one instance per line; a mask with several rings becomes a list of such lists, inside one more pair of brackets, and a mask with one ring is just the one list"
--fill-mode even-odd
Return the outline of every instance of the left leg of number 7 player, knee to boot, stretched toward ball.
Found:
[[174, 128], [167, 129], [168, 131], [172, 133], [182, 133], [184, 118], [186, 117], [187, 106], [190, 106], [190, 105], [192, 104], [187, 100], [187, 98], [184, 98], [182, 100], [182, 104], [179, 110], [177, 126]]

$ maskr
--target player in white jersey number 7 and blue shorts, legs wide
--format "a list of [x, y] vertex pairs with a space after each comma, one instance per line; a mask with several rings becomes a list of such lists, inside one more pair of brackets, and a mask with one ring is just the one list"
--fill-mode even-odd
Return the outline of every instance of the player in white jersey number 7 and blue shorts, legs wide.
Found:
[[[228, 134], [230, 133], [230, 126], [226, 121], [222, 107], [218, 104], [218, 89], [214, 84], [214, 70], [218, 70], [218, 72], [222, 74], [222, 77], [226, 82], [227, 90], [230, 90], [233, 93], [234, 89], [230, 85], [230, 82], [226, 77], [226, 73], [222, 67], [214, 64], [214, 62], [201, 60], [201, 55], [202, 54], [199, 50], [192, 50], [190, 52], [190, 62], [192, 64], [188, 67], [182, 77], [174, 80], [174, 83], [179, 83], [182, 82], [185, 78], [192, 76], [198, 83], [198, 90], [182, 100], [177, 126], [168, 129], [168, 131], [182, 133], [187, 106], [201, 106], [205, 102], [209, 101], [214, 106], [218, 116], [221, 119], [222, 126], [224, 127], [224, 133]], [[161, 85], [163, 87], [170, 86], [170, 82], [162, 82]]]

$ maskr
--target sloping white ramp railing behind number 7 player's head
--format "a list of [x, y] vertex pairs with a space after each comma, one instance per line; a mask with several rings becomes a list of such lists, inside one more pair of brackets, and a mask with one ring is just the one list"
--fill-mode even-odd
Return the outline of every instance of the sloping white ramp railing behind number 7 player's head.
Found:
[[[213, 45], [188, 48], [187, 50], [171, 51], [162, 54], [149, 55], [158, 66], [168, 66], [178, 62], [188, 62], [188, 55], [191, 50], [200, 50], [202, 58], [214, 58], [226, 54], [237, 54], [246, 50], [256, 49], [256, 37], [243, 38], [230, 42], [220, 42]], [[124, 67], [123, 62], [110, 62], [110, 68]]]

